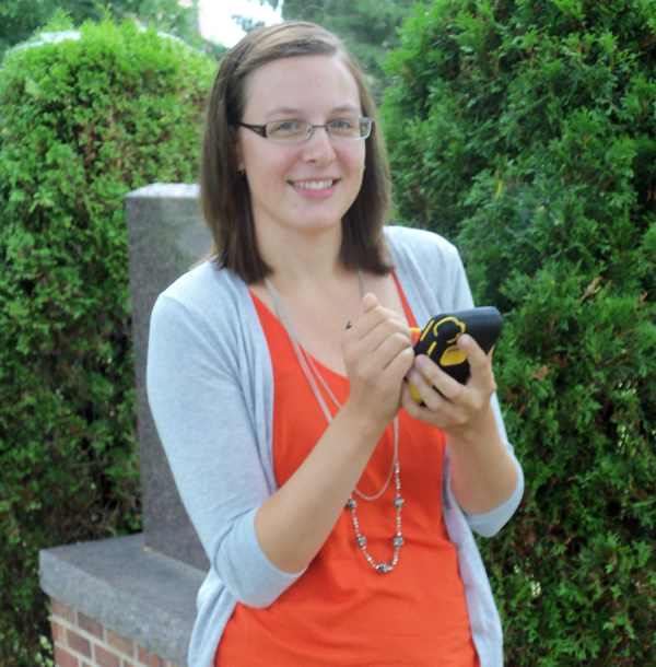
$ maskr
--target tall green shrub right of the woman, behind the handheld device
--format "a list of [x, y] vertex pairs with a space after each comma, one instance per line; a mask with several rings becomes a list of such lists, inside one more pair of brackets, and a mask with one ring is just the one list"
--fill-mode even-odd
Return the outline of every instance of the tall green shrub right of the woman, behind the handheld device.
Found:
[[437, 0], [384, 103], [399, 213], [460, 247], [524, 503], [481, 549], [508, 665], [656, 663], [656, 5]]

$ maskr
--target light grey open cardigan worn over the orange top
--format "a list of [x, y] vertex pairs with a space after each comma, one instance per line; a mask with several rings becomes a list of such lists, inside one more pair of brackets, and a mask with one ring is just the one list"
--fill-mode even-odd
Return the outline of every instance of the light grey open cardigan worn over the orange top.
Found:
[[[418, 324], [472, 306], [452, 244], [401, 226], [385, 233]], [[210, 667], [236, 602], [267, 607], [303, 574], [278, 570], [255, 535], [255, 514], [277, 484], [271, 361], [247, 285], [207, 261], [163, 292], [151, 318], [147, 376], [157, 432], [211, 563], [189, 646], [189, 665]], [[501, 622], [472, 530], [492, 536], [508, 520], [522, 499], [522, 468], [517, 464], [517, 487], [507, 501], [468, 516], [450, 490], [448, 452], [444, 466], [444, 519], [458, 554], [473, 641], [482, 667], [501, 666]]]

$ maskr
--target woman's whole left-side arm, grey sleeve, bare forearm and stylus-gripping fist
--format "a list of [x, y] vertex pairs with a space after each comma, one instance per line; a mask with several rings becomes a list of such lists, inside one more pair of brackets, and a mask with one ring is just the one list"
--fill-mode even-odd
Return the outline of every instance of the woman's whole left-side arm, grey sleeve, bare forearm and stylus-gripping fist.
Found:
[[[230, 303], [214, 306], [203, 303], [207, 312]], [[247, 605], [270, 605], [302, 574], [399, 409], [413, 360], [407, 323], [372, 295], [364, 309], [344, 332], [349, 400], [280, 489], [267, 476], [268, 443], [263, 452], [259, 442], [263, 416], [249, 407], [253, 371], [241, 373], [231, 359], [236, 346], [221, 338], [226, 330], [195, 321], [202, 318], [167, 297], [153, 311], [148, 389], [155, 424], [212, 567]]]

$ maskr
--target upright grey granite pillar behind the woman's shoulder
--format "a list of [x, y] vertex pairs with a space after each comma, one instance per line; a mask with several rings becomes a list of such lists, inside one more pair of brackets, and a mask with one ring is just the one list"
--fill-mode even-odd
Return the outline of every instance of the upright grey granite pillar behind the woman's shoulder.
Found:
[[152, 184], [126, 196], [138, 437], [145, 545], [207, 570], [207, 557], [183, 507], [148, 405], [145, 362], [157, 295], [211, 249], [196, 185]]

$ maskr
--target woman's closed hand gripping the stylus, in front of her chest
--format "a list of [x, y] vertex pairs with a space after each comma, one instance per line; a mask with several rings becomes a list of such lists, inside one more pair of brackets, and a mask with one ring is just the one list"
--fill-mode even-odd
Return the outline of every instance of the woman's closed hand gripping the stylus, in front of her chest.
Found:
[[365, 294], [362, 315], [342, 337], [342, 353], [349, 401], [387, 424], [400, 408], [402, 381], [414, 361], [408, 323]]

